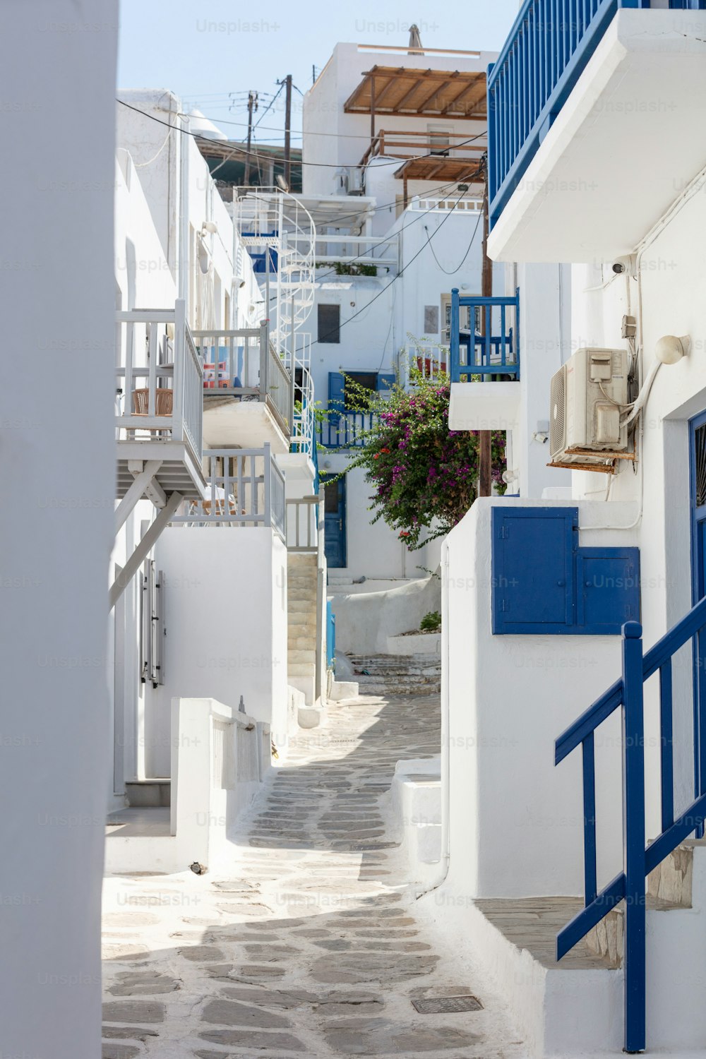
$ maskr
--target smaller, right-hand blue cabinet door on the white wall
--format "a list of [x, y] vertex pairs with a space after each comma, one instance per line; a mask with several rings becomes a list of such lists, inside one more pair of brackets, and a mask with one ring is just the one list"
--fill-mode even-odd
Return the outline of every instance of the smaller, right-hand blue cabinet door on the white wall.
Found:
[[577, 554], [577, 632], [619, 635], [639, 622], [639, 550], [580, 548]]

